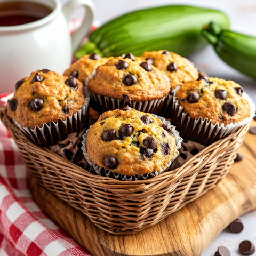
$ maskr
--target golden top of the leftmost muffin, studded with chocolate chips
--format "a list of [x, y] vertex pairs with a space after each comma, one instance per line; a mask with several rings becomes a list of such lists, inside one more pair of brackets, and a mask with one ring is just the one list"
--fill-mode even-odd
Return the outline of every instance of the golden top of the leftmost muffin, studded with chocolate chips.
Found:
[[84, 85], [75, 77], [62, 76], [47, 69], [37, 70], [18, 81], [7, 114], [22, 127], [42, 127], [62, 121], [85, 103]]

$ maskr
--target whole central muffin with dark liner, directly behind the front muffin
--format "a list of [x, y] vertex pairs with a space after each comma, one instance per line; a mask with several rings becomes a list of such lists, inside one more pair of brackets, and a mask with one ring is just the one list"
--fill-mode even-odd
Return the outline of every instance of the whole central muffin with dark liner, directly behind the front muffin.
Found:
[[[171, 88], [169, 79], [162, 71], [131, 53], [99, 66], [88, 86], [95, 99], [92, 107], [101, 105], [102, 109], [98, 109], [100, 113], [129, 105], [140, 111], [152, 108], [149, 112], [157, 114], [159, 105], [163, 105], [163, 97]], [[104, 97], [109, 98], [106, 100]], [[153, 100], [153, 104], [148, 104]], [[139, 101], [143, 101], [143, 109]]]

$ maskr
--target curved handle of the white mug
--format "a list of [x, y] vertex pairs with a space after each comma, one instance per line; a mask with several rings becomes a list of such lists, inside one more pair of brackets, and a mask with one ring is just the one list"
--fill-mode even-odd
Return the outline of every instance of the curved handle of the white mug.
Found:
[[95, 6], [91, 0], [71, 0], [65, 4], [62, 9], [63, 14], [69, 22], [73, 11], [80, 6], [84, 6], [86, 8], [86, 14], [82, 25], [73, 33], [73, 35], [71, 35], [73, 53], [78, 49], [82, 40], [92, 27], [95, 15]]

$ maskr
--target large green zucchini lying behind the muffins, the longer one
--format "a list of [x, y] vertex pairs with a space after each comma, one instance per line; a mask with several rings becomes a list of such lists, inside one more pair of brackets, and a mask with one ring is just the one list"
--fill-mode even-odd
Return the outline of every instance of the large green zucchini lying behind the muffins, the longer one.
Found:
[[207, 44], [202, 28], [216, 22], [228, 29], [227, 16], [216, 10], [170, 5], [127, 13], [105, 23], [76, 52], [76, 57], [96, 52], [102, 57], [145, 51], [169, 50], [186, 56]]

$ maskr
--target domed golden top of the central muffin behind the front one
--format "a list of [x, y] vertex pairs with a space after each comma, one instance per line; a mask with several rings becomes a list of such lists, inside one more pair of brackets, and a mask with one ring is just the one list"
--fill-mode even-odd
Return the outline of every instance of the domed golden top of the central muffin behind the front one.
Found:
[[99, 66], [89, 89], [111, 98], [145, 101], [164, 97], [170, 83], [162, 71], [129, 53]]

